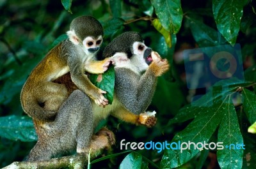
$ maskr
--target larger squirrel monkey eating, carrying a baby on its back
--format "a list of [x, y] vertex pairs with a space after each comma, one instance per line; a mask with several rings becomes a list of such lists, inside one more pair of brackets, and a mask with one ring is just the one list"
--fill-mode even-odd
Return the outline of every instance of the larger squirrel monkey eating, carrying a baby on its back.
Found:
[[[153, 57], [152, 49], [143, 43], [139, 33], [127, 32], [117, 36], [103, 52], [115, 64], [115, 94], [112, 105], [105, 108], [93, 103], [86, 94], [71, 82], [69, 74], [54, 80], [67, 85], [71, 92], [61, 105], [54, 122], [36, 121], [38, 142], [28, 155], [27, 161], [42, 161], [65, 152], [88, 154], [102, 147], [90, 141], [93, 130], [101, 119], [113, 115], [126, 122], [140, 124], [139, 115], [145, 112], [156, 89], [157, 77], [169, 68], [168, 61]], [[156, 119], [148, 119], [153, 126]], [[111, 131], [104, 131], [109, 142], [115, 140]]]

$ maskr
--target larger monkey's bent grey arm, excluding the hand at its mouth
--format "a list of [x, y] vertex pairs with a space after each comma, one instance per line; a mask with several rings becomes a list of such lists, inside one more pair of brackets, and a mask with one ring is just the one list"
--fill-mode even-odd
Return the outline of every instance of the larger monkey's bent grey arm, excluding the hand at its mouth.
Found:
[[157, 77], [150, 68], [140, 77], [127, 68], [115, 68], [115, 92], [133, 114], [145, 112], [156, 89]]

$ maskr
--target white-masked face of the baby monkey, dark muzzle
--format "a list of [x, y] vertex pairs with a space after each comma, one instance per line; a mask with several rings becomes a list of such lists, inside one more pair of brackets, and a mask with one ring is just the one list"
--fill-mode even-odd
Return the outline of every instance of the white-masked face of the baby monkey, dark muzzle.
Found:
[[97, 38], [94, 38], [92, 36], [87, 36], [83, 40], [83, 47], [86, 49], [86, 51], [93, 54], [99, 50], [101, 43], [102, 43], [101, 35], [98, 36]]

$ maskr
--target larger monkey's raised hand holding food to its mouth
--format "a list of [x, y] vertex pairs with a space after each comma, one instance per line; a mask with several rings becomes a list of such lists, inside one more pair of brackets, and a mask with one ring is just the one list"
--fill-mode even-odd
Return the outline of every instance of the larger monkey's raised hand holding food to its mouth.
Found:
[[162, 59], [157, 52], [152, 52], [152, 63], [150, 64], [149, 68], [154, 72], [156, 77], [160, 77], [165, 73], [166, 71], [169, 70], [169, 63], [167, 59]]

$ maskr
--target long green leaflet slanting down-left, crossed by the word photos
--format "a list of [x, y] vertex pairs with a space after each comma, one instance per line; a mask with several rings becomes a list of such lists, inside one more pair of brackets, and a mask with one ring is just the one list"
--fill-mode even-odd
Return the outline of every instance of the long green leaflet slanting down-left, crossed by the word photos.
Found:
[[[227, 114], [228, 103], [226, 103], [227, 97], [223, 99], [222, 103], [217, 101], [208, 107], [207, 109], [201, 107], [198, 108], [198, 114], [195, 119], [181, 132], [177, 133], [172, 142], [194, 142], [194, 143], [207, 143], [212, 134], [218, 127], [221, 121], [221, 115]], [[164, 151], [164, 156], [161, 161], [161, 168], [175, 168], [177, 166], [187, 163], [199, 152], [198, 149], [192, 148], [183, 150], [182, 152], [177, 149], [170, 149]]]

